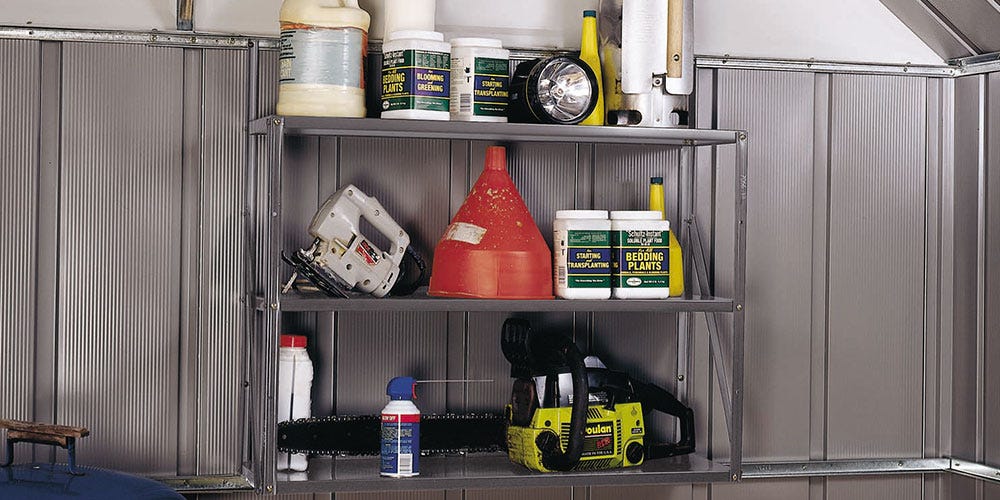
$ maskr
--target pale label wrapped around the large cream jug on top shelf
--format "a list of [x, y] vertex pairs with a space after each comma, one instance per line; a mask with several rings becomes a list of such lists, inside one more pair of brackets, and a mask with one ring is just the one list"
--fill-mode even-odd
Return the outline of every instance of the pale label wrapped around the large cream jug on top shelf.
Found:
[[278, 81], [363, 89], [367, 54], [364, 30], [281, 23]]

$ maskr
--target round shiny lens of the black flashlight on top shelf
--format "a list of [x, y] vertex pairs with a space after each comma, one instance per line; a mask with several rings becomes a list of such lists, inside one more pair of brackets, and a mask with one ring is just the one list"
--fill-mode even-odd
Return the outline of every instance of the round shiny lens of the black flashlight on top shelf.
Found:
[[587, 73], [570, 61], [552, 61], [538, 74], [538, 101], [560, 122], [586, 114], [592, 92]]

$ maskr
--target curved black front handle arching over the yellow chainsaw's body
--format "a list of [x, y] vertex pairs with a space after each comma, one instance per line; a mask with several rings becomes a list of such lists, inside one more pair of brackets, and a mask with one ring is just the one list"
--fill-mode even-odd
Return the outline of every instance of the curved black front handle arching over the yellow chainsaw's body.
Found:
[[539, 446], [542, 451], [542, 465], [546, 469], [555, 471], [568, 471], [576, 467], [583, 456], [583, 440], [587, 426], [587, 407], [590, 405], [590, 389], [587, 383], [587, 367], [583, 363], [583, 354], [567, 337], [559, 336], [563, 345], [560, 347], [562, 354], [569, 365], [570, 375], [573, 379], [573, 408], [569, 421], [569, 442], [566, 444], [566, 451], [559, 447], [559, 439], [546, 446]]

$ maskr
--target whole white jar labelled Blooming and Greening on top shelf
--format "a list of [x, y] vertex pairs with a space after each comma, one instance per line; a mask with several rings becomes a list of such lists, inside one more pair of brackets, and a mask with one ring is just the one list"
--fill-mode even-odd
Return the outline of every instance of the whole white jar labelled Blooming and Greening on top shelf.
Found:
[[396, 31], [382, 45], [382, 118], [451, 117], [451, 44], [435, 31]]

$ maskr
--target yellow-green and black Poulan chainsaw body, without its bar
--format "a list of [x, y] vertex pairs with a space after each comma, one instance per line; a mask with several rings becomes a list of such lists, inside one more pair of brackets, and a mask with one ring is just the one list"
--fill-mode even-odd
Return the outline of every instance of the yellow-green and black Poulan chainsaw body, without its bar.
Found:
[[[694, 412], [666, 390], [521, 319], [504, 322], [500, 343], [515, 379], [506, 412], [512, 462], [541, 472], [601, 470], [694, 451]], [[644, 413], [654, 409], [680, 419], [677, 443], [646, 442]]]

